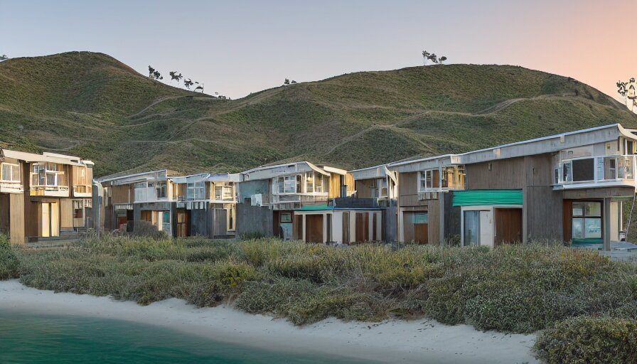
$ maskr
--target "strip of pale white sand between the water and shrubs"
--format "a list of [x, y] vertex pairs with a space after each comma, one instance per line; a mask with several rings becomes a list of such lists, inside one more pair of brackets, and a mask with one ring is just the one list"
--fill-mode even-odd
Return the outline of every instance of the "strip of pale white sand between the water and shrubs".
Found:
[[0, 282], [0, 309], [134, 321], [216, 341], [387, 363], [537, 363], [530, 353], [533, 335], [482, 332], [423, 319], [382, 323], [327, 319], [299, 328], [284, 319], [245, 314], [228, 306], [198, 309], [180, 299], [139, 306], [109, 297], [41, 291], [16, 279]]

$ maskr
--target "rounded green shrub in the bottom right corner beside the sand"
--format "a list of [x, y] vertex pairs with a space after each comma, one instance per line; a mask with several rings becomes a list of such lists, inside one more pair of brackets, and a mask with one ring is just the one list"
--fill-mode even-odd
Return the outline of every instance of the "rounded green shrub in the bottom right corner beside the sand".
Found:
[[534, 346], [546, 363], [637, 363], [637, 321], [579, 316], [540, 333]]

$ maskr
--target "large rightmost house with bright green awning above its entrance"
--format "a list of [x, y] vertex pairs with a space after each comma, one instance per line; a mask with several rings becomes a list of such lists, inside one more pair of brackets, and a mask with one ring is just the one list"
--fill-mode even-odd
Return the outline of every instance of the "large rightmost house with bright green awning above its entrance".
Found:
[[398, 240], [497, 246], [563, 240], [609, 250], [635, 196], [636, 131], [619, 124], [404, 161]]

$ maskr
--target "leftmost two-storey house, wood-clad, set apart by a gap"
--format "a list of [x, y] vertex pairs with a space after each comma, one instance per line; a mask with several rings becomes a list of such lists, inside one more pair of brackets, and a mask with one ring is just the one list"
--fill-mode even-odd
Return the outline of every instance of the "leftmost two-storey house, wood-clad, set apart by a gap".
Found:
[[91, 161], [2, 150], [0, 230], [16, 244], [73, 237], [92, 228]]

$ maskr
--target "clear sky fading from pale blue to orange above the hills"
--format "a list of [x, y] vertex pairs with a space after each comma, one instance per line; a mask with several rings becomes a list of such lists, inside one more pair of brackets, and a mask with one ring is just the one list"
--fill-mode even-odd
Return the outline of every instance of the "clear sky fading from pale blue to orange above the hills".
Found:
[[[178, 70], [205, 92], [244, 97], [343, 73], [508, 64], [618, 97], [637, 77], [635, 0], [0, 0], [0, 55], [90, 50], [142, 74]], [[168, 82], [166, 79], [165, 82]]]

